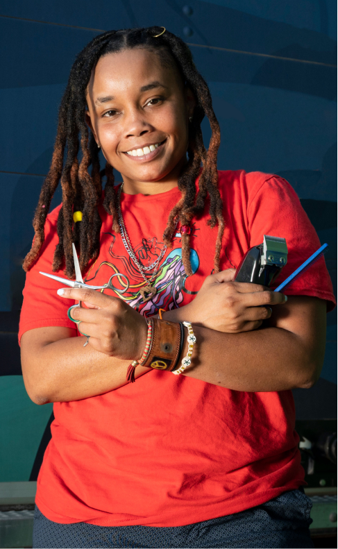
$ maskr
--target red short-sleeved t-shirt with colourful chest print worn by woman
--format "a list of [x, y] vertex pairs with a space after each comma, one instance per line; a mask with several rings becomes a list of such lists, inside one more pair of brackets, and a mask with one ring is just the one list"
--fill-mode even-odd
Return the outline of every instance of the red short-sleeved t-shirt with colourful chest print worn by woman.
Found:
[[[226, 219], [221, 269], [237, 267], [264, 234], [285, 237], [289, 256], [279, 283], [319, 248], [314, 228], [284, 179], [221, 171], [219, 187]], [[122, 194], [130, 241], [144, 265], [158, 255], [168, 214], [179, 198], [177, 187], [155, 196]], [[51, 272], [59, 209], [49, 214], [42, 253], [27, 273], [19, 337], [42, 326], [74, 328], [67, 318], [71, 303], [56, 294], [60, 284], [39, 274]], [[100, 214], [100, 253], [90, 264], [87, 282], [101, 285], [112, 273], [125, 273], [130, 289], [122, 298], [148, 316], [194, 298], [213, 265], [217, 229], [206, 225], [207, 211], [193, 224], [194, 274], [185, 276], [178, 227], [156, 277], [158, 293], [145, 305], [139, 292], [143, 279], [121, 236], [113, 233], [111, 217], [102, 207]], [[335, 298], [324, 260], [286, 294], [316, 296], [332, 308]], [[305, 484], [291, 391], [246, 393], [149, 371], [133, 385], [55, 403], [54, 414], [36, 503], [57, 523], [187, 525], [241, 512]]]

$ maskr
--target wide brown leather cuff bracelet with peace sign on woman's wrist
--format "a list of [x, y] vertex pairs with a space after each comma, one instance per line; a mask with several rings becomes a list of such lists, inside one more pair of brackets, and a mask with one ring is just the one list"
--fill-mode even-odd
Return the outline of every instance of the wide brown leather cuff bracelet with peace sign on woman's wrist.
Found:
[[180, 355], [181, 327], [179, 323], [151, 319], [153, 334], [149, 355], [142, 366], [155, 370], [173, 371]]

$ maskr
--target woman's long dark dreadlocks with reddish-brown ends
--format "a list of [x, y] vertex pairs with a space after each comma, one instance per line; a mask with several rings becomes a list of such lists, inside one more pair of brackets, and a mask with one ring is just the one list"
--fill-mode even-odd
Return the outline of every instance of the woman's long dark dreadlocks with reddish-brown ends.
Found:
[[[217, 176], [219, 124], [212, 109], [210, 90], [194, 65], [189, 47], [183, 40], [168, 31], [156, 36], [158, 31], [159, 28], [156, 26], [108, 31], [96, 36], [76, 58], [60, 105], [53, 158], [35, 210], [33, 219], [35, 239], [31, 251], [24, 260], [25, 271], [31, 269], [44, 243], [44, 223], [59, 181], [62, 187], [62, 208], [58, 215], [59, 243], [53, 257], [53, 271], [65, 266], [65, 274], [69, 278], [74, 278], [72, 242], [80, 248], [81, 271], [84, 271], [88, 262], [99, 254], [101, 218], [97, 206], [102, 194], [102, 173], [107, 178], [103, 206], [112, 216], [112, 229], [115, 233], [119, 233], [113, 169], [107, 163], [105, 171], [100, 172], [99, 150], [85, 122], [87, 85], [90, 82], [92, 70], [101, 57], [133, 48], [145, 48], [157, 53], [164, 65], [174, 63], [183, 82], [192, 90], [196, 99], [194, 115], [189, 124], [188, 162], [178, 178], [178, 189], [182, 196], [169, 214], [163, 235], [164, 243], [171, 246], [171, 236], [177, 221], [180, 221], [181, 225], [187, 225], [194, 217], [202, 214], [205, 203], [209, 199], [208, 224], [212, 227], [218, 225], [214, 271], [219, 271], [219, 255], [224, 231], [223, 203], [219, 194]], [[201, 121], [205, 115], [209, 119], [212, 130], [208, 150], [203, 145], [201, 130]], [[79, 153], [80, 162], [78, 161]], [[88, 171], [90, 167], [91, 173]], [[199, 189], [196, 196], [195, 180], [198, 174], [200, 175]], [[73, 221], [73, 212], [76, 210], [83, 212], [81, 223]], [[188, 276], [192, 275], [189, 242], [190, 235], [182, 234], [182, 259]]]

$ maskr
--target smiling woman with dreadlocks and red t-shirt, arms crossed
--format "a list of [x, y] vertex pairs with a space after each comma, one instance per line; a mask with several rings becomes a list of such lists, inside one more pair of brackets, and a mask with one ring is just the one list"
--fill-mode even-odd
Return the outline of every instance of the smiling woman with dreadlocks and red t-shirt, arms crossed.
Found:
[[[234, 282], [264, 234], [287, 239], [283, 278], [319, 239], [282, 178], [217, 172], [219, 140], [208, 86], [168, 31], [104, 33], [74, 63], [24, 262], [24, 381], [55, 403], [35, 549], [312, 547], [291, 389], [319, 377], [330, 278], [321, 260], [288, 298]], [[87, 284], [128, 285], [41, 276], [74, 278], [72, 242]]]

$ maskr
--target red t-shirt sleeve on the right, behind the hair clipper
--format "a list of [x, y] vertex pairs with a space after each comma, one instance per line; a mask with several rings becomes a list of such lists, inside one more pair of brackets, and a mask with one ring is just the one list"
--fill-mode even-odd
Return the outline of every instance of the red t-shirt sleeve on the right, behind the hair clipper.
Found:
[[[285, 179], [270, 176], [253, 191], [253, 196], [248, 201], [251, 246], [263, 242], [264, 234], [282, 237], [287, 241], [287, 265], [272, 285], [272, 288], [276, 288], [325, 243], [319, 241], [301, 201]], [[328, 311], [332, 310], [336, 301], [324, 257], [287, 287], [285, 294], [325, 299], [328, 302]]]

